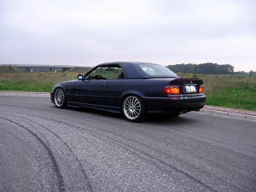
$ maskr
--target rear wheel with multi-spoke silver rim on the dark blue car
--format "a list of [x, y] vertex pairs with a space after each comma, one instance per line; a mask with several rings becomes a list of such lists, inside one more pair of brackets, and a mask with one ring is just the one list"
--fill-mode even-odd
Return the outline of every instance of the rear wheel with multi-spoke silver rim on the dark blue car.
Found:
[[131, 122], [141, 122], [146, 118], [146, 108], [138, 96], [126, 96], [122, 103], [122, 113]]

